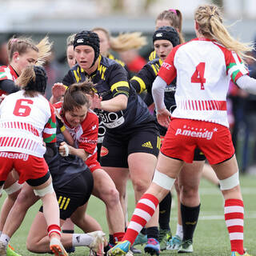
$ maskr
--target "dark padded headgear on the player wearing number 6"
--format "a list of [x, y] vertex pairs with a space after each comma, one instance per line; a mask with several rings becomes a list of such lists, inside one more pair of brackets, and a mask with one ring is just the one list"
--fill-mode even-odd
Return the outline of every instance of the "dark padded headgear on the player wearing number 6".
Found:
[[35, 81], [31, 79], [30, 82], [24, 87], [24, 90], [36, 90], [39, 93], [44, 94], [46, 91], [47, 74], [46, 70], [42, 66], [33, 66]]

